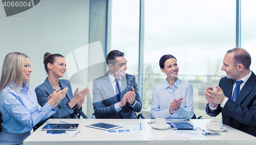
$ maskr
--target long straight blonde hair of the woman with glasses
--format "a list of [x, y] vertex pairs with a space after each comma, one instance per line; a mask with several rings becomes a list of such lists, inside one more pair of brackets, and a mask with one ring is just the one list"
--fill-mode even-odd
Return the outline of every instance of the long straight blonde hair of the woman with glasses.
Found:
[[16, 91], [17, 85], [23, 82], [29, 86], [29, 80], [23, 81], [23, 69], [26, 57], [28, 57], [26, 54], [19, 52], [11, 52], [5, 56], [0, 81], [0, 91], [12, 82], [14, 83], [14, 91]]

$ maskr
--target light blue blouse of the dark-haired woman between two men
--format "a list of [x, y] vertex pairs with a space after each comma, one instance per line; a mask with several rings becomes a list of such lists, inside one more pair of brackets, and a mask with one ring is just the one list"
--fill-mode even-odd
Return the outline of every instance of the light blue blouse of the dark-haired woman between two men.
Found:
[[[183, 98], [178, 110], [173, 114], [169, 113], [170, 103], [174, 99]], [[191, 83], [182, 81], [179, 78], [174, 83], [173, 89], [170, 88], [167, 79], [157, 84], [153, 90], [153, 99], [150, 111], [152, 119], [191, 119], [194, 115], [193, 87]]]

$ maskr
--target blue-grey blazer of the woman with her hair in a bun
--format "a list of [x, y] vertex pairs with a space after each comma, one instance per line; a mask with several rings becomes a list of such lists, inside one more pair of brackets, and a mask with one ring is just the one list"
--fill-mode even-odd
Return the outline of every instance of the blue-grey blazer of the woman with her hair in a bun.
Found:
[[[68, 87], [66, 92], [66, 97], [60, 100], [59, 104], [55, 107], [56, 113], [54, 113], [51, 118], [54, 119], [74, 119], [77, 118], [77, 113], [82, 113], [82, 108], [80, 110], [76, 109], [76, 105], [70, 108], [69, 102], [74, 97], [72, 93], [72, 88], [69, 80], [59, 79], [59, 85], [61, 90]], [[36, 87], [35, 93], [37, 97], [38, 104], [44, 106], [48, 102], [48, 96], [52, 94], [55, 90], [52, 84], [46, 78], [45, 82]]]

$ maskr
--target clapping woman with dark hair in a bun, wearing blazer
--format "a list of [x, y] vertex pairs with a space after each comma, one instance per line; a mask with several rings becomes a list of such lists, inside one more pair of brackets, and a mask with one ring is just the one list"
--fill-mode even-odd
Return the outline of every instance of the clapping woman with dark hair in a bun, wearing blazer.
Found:
[[71, 84], [69, 80], [59, 79], [63, 77], [66, 72], [66, 61], [60, 54], [51, 54], [49, 52], [44, 55], [45, 70], [48, 77], [45, 82], [36, 87], [36, 97], [38, 104], [43, 106], [47, 102], [47, 96], [52, 94], [55, 90], [63, 90], [69, 88], [65, 98], [55, 107], [56, 113], [51, 118], [54, 119], [76, 119], [78, 113], [83, 118], [87, 118], [82, 112], [82, 104], [84, 98], [89, 92], [89, 88], [85, 88], [78, 92], [76, 89], [74, 95], [72, 93]]

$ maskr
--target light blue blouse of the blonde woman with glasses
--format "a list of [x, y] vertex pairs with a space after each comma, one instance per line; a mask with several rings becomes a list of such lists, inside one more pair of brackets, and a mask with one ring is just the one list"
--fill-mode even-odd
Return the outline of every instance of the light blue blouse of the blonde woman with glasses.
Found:
[[55, 108], [46, 103], [38, 109], [35, 91], [23, 83], [23, 88], [17, 86], [17, 92], [13, 88], [14, 83], [7, 86], [0, 93], [0, 111], [2, 113], [2, 128], [8, 133], [25, 133], [32, 130], [37, 123], [49, 118], [55, 113]]

